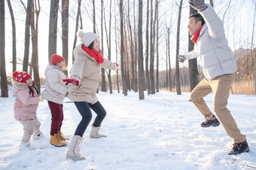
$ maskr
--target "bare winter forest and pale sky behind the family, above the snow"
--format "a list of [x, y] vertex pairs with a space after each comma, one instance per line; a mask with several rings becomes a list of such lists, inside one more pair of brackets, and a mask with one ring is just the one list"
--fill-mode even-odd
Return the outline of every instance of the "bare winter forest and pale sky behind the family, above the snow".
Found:
[[[232, 93], [255, 94], [255, 1], [206, 3], [223, 19], [238, 64]], [[79, 29], [96, 33], [102, 55], [120, 64], [117, 72], [102, 69], [100, 91], [139, 91], [140, 100], [142, 91], [192, 91], [203, 73], [197, 59], [180, 64], [178, 55], [194, 48], [187, 19], [196, 12], [187, 1], [2, 0], [2, 97], [8, 97], [15, 70], [31, 73], [40, 89], [54, 53], [66, 58], [68, 75]]]

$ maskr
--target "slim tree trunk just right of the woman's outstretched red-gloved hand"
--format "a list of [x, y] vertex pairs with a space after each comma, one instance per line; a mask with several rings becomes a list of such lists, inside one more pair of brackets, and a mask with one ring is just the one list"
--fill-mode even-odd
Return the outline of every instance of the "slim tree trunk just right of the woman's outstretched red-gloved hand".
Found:
[[123, 84], [123, 94], [124, 96], [127, 95], [127, 88], [126, 88], [126, 77], [124, 74], [124, 64], [123, 64], [123, 0], [120, 0], [119, 4], [119, 10], [120, 10], [120, 37], [121, 37], [121, 46], [120, 46], [120, 57], [121, 57], [121, 73], [122, 73], [122, 84]]

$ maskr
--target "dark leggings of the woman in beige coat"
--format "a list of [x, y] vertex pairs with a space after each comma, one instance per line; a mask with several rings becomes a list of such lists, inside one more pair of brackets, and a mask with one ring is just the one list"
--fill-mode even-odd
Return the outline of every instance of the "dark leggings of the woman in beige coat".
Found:
[[87, 102], [74, 102], [75, 106], [78, 109], [78, 112], [82, 116], [82, 120], [78, 124], [77, 129], [75, 130], [75, 135], [83, 136], [85, 130], [87, 129], [88, 124], [90, 123], [90, 120], [92, 119], [92, 112], [90, 109], [93, 109], [94, 112], [96, 112], [97, 116], [95, 118], [95, 121], [93, 122], [94, 127], [99, 127], [100, 124], [102, 124], [103, 119], [105, 118], [106, 112], [103, 108], [102, 104], [94, 103], [93, 105]]

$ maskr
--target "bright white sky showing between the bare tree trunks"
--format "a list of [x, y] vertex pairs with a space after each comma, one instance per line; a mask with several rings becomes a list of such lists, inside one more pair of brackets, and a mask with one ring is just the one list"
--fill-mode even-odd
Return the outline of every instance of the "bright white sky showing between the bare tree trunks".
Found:
[[[254, 15], [254, 4], [252, 0], [247, 0], [243, 4], [241, 4], [242, 0], [239, 1], [231, 1], [230, 6], [227, 5], [227, 1], [214, 1], [215, 3], [215, 10], [217, 11], [218, 15], [221, 19], [224, 19], [224, 27], [226, 30], [226, 36], [229, 41], [229, 45], [231, 49], [238, 49], [239, 46], [243, 46], [244, 48], [251, 47], [251, 34], [252, 34], [252, 23], [253, 23], [253, 15]], [[41, 0], [41, 13], [39, 16], [39, 28], [38, 28], [38, 57], [39, 57], [39, 71], [41, 76], [44, 75], [44, 69], [48, 64], [48, 27], [49, 27], [49, 10], [50, 10], [50, 0]], [[109, 5], [109, 1], [105, 1], [106, 5]], [[125, 1], [126, 2], [126, 1]], [[208, 2], [208, 1], [206, 1]], [[14, 17], [16, 22], [16, 29], [17, 29], [17, 58], [18, 62], [22, 63], [23, 55], [24, 55], [24, 30], [25, 30], [25, 19], [26, 14], [23, 6], [20, 3], [20, 0], [11, 1], [14, 9]], [[88, 3], [88, 1], [86, 2]], [[99, 2], [98, 2], [99, 3]], [[144, 1], [144, 3], [146, 3]], [[26, 2], [24, 1], [24, 4]], [[70, 1], [70, 18], [69, 18], [69, 63], [72, 61], [72, 46], [73, 40], [75, 37], [75, 15], [77, 10], [77, 3]], [[175, 4], [174, 1], [161, 1], [160, 10], [161, 22], [160, 25], [172, 25], [172, 32], [171, 32], [171, 56], [172, 56], [172, 67], [175, 67], [175, 29], [176, 29], [176, 18], [178, 17], [178, 6], [174, 6], [172, 10], [172, 4]], [[59, 2], [61, 5], [61, 2]], [[131, 4], [132, 5], [132, 4]], [[87, 5], [85, 5], [87, 6]], [[112, 5], [113, 6], [113, 5]], [[146, 6], [146, 4], [144, 4]], [[242, 6], [242, 7], [241, 7]], [[90, 6], [87, 6], [90, 7]], [[227, 10], [229, 7], [230, 10]], [[145, 9], [145, 7], [144, 7]], [[87, 9], [88, 10], [88, 9]], [[99, 4], [96, 5], [96, 21], [98, 22], [97, 30], [100, 30], [100, 6]], [[226, 11], [227, 10], [227, 11]], [[174, 11], [172, 13], [172, 11]], [[118, 11], [117, 11], [118, 12]], [[189, 12], [189, 6], [187, 1], [184, 1], [183, 8], [182, 8], [182, 19], [181, 19], [181, 36], [180, 36], [180, 54], [184, 54], [187, 52], [187, 16]], [[82, 6], [82, 16], [83, 16], [83, 26], [85, 31], [93, 31], [93, 24], [90, 18], [87, 16], [87, 11], [85, 10], [84, 6]], [[242, 14], [241, 14], [242, 13]], [[108, 11], [106, 11], [108, 14]], [[144, 15], [145, 16], [145, 11]], [[112, 16], [114, 19], [114, 16]], [[169, 23], [168, 23], [169, 22]], [[62, 46], [61, 46], [61, 16], [59, 12], [59, 19], [58, 19], [58, 40], [57, 40], [57, 54], [62, 55]], [[118, 23], [117, 23], [118, 24]], [[145, 24], [145, 21], [143, 22]], [[12, 30], [11, 30], [11, 16], [8, 10], [8, 4], [5, 3], [5, 57], [6, 57], [6, 67], [7, 73], [12, 72]], [[114, 37], [114, 22], [112, 23], [112, 36]], [[161, 30], [162, 29], [162, 30]], [[165, 27], [162, 26], [160, 28], [160, 70], [165, 70], [165, 58], [166, 58], [166, 43], [165, 43]], [[144, 28], [145, 31], [145, 28]], [[255, 31], [254, 31], [255, 32]], [[144, 38], [145, 39], [145, 38]], [[105, 38], [106, 40], [106, 38]], [[144, 40], [145, 41], [145, 40]], [[255, 36], [254, 36], [254, 42]], [[79, 41], [78, 41], [79, 43]], [[77, 44], [78, 44], [77, 43]], [[112, 47], [115, 48], [114, 40], [112, 40]], [[145, 42], [144, 42], [145, 44]], [[254, 43], [256, 44], [256, 43]], [[31, 46], [31, 43], [30, 43]], [[106, 46], [106, 43], [105, 43]], [[255, 46], [255, 45], [254, 45]], [[106, 49], [106, 47], [104, 47]], [[144, 48], [145, 50], [145, 48]], [[112, 59], [111, 61], [120, 62], [119, 60], [116, 61], [115, 57], [115, 49], [112, 52]], [[32, 52], [32, 48], [30, 48], [30, 52]], [[106, 52], [106, 51], [105, 51]], [[119, 55], [119, 54], [118, 54]], [[107, 55], [103, 55], [107, 56]], [[20, 59], [20, 60], [19, 60]], [[30, 61], [30, 59], [29, 59]], [[187, 61], [184, 64], [181, 64], [181, 67], [186, 67]], [[71, 65], [69, 66], [70, 69]], [[18, 64], [17, 69], [21, 70], [22, 65]]]

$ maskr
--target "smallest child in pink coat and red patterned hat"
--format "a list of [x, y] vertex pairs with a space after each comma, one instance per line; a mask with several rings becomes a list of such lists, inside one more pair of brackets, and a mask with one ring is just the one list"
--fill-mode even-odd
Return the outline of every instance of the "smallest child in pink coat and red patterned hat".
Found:
[[42, 101], [35, 87], [35, 82], [29, 73], [15, 71], [13, 73], [13, 93], [16, 97], [14, 103], [14, 118], [23, 125], [23, 139], [20, 143], [20, 150], [29, 148], [30, 138], [34, 139], [43, 137], [40, 130], [40, 122], [36, 117], [38, 102]]

